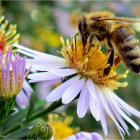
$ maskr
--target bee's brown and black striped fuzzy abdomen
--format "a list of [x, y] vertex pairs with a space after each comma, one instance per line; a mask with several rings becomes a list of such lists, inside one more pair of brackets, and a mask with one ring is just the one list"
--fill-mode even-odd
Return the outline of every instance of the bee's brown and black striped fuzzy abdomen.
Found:
[[135, 73], [140, 73], [140, 45], [132, 29], [128, 26], [119, 26], [111, 36], [127, 67]]

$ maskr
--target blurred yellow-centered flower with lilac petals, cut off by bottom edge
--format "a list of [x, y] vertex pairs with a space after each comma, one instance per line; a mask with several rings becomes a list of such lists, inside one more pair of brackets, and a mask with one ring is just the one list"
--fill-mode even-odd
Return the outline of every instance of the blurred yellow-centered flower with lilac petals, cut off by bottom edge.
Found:
[[[51, 140], [103, 140], [98, 133], [78, 132], [79, 128], [72, 128], [73, 117], [65, 114], [59, 116], [57, 114], [50, 114], [47, 124], [52, 128], [53, 136]], [[77, 132], [77, 133], [76, 133]]]

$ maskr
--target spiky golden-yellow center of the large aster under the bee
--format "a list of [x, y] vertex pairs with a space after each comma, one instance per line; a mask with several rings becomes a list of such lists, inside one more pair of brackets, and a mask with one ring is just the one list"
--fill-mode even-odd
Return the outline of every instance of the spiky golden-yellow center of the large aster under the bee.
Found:
[[117, 52], [115, 52], [114, 65], [111, 67], [110, 73], [105, 75], [104, 69], [108, 67], [109, 54], [102, 53], [98, 44], [94, 44], [94, 47], [90, 48], [89, 43], [87, 43], [83, 47], [81, 39], [77, 38], [75, 41], [73, 37], [71, 42], [69, 40], [65, 42], [63, 38], [61, 38], [61, 42], [63, 45], [61, 54], [67, 60], [69, 67], [76, 69], [82, 77], [92, 79], [99, 86], [110, 87], [112, 90], [127, 85], [126, 82], [119, 83], [117, 81], [117, 79], [127, 77], [128, 73], [126, 71], [124, 74], [116, 74], [114, 69], [120, 63]]

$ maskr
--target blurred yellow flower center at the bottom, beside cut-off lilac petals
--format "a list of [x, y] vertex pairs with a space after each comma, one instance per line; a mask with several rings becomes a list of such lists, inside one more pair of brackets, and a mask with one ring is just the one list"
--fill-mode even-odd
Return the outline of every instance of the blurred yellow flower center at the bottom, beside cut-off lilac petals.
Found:
[[55, 140], [64, 139], [77, 132], [79, 130], [78, 128], [74, 129], [69, 126], [71, 122], [72, 117], [63, 118], [57, 114], [49, 115], [48, 125], [50, 125], [53, 130], [53, 138]]

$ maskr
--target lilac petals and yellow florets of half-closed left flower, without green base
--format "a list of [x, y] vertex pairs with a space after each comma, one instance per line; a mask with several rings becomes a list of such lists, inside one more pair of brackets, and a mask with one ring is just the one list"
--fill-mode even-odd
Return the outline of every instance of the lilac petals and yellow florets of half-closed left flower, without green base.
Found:
[[4, 58], [0, 52], [0, 97], [16, 96], [22, 89], [25, 77], [25, 57], [15, 54], [12, 59], [12, 50], [8, 50]]

